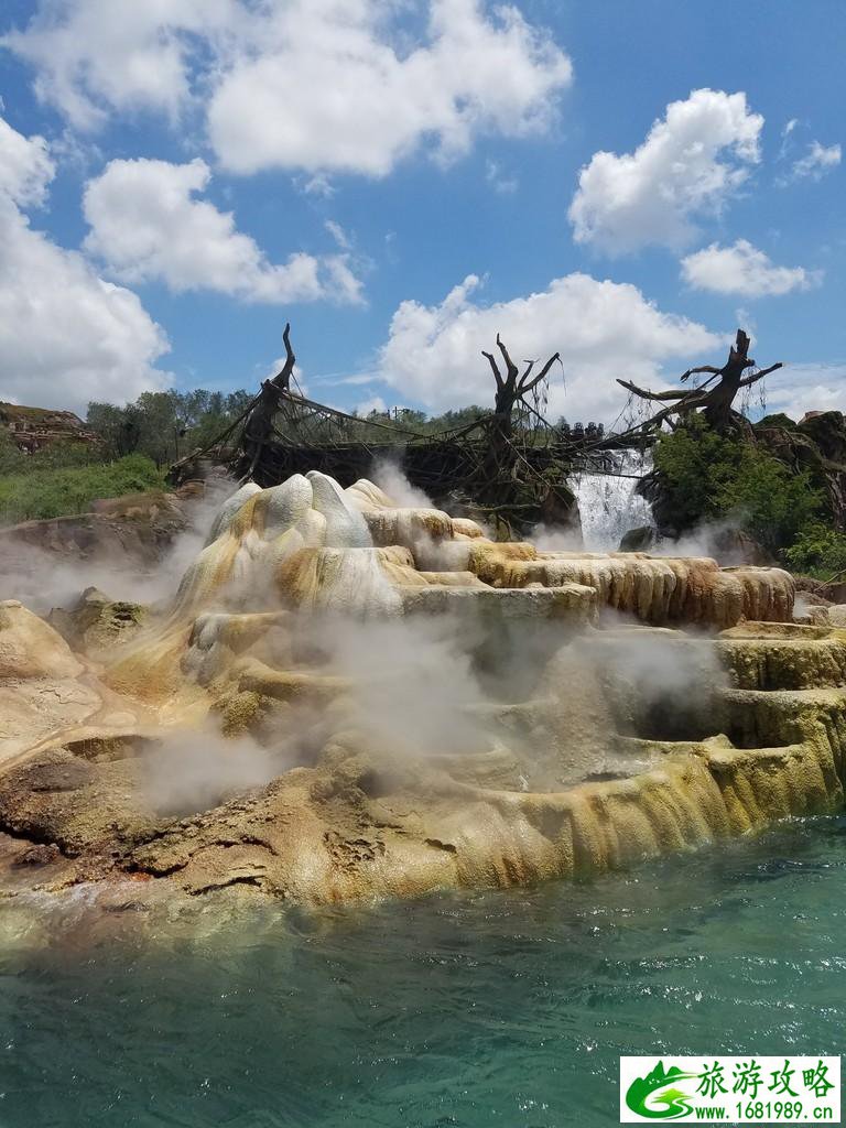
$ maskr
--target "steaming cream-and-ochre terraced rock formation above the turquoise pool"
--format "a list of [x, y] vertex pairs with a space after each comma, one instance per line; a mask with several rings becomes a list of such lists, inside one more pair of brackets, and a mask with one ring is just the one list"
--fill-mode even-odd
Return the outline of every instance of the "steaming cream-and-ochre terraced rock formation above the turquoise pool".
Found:
[[243, 486], [158, 615], [89, 591], [62, 637], [0, 606], [0, 853], [46, 889], [319, 905], [827, 813], [846, 631], [793, 599], [778, 569], [495, 543], [363, 479]]

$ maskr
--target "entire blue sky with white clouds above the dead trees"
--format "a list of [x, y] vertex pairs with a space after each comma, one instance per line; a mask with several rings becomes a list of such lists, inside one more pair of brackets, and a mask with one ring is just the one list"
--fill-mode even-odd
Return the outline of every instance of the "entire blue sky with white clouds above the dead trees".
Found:
[[254, 387], [290, 319], [327, 403], [488, 402], [501, 329], [610, 423], [742, 324], [770, 408], [846, 409], [839, 0], [7, 0], [0, 36], [0, 398]]

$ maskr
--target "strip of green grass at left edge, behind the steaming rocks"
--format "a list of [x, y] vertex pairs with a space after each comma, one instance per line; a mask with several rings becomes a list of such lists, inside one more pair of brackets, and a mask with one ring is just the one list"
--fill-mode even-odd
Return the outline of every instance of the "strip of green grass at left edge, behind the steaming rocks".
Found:
[[0, 525], [89, 511], [100, 497], [161, 490], [165, 472], [143, 455], [89, 466], [33, 468], [0, 476]]

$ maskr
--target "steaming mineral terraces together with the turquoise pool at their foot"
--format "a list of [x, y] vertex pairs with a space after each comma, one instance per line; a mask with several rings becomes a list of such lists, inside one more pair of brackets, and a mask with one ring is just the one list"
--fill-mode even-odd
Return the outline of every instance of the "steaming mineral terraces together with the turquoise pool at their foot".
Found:
[[836, 1051], [846, 633], [404, 500], [250, 483], [151, 606], [0, 603], [0, 1119], [603, 1123], [622, 1052]]

